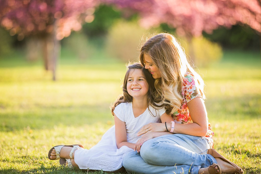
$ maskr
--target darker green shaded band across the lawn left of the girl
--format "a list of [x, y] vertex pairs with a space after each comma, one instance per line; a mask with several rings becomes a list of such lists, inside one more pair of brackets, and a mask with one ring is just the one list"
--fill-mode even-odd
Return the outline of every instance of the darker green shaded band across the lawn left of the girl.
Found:
[[79, 127], [97, 122], [114, 124], [109, 106], [40, 107], [1, 113], [0, 130], [53, 129], [57, 126]]

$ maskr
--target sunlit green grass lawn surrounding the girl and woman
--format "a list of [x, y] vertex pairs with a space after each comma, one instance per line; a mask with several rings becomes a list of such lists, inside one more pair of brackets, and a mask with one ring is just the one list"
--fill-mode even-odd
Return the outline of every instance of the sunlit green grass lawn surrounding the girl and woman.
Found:
[[[59, 144], [91, 148], [114, 124], [109, 106], [126, 67], [100, 56], [79, 61], [63, 51], [56, 82], [40, 60], [0, 59], [0, 173], [87, 173], [61, 167], [47, 153]], [[226, 51], [199, 69], [215, 149], [245, 173], [261, 173], [260, 54]]]

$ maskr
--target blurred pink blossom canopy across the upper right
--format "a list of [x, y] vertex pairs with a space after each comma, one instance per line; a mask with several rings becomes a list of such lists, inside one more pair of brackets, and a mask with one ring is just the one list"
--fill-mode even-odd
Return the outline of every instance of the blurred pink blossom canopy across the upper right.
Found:
[[[106, 1], [106, 0], [105, 0]], [[110, 0], [126, 15], [138, 13], [140, 25], [158, 27], [161, 23], [176, 29], [191, 43], [193, 36], [212, 33], [220, 26], [248, 25], [261, 35], [260, 0]], [[190, 55], [194, 57], [193, 50]]]

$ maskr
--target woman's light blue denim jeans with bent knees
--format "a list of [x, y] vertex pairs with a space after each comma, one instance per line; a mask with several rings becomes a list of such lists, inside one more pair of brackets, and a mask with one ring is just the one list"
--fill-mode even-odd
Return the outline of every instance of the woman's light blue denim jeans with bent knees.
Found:
[[204, 137], [172, 134], [143, 143], [140, 153], [123, 155], [122, 164], [128, 172], [145, 174], [198, 174], [200, 168], [217, 163], [207, 154], [210, 145]]

